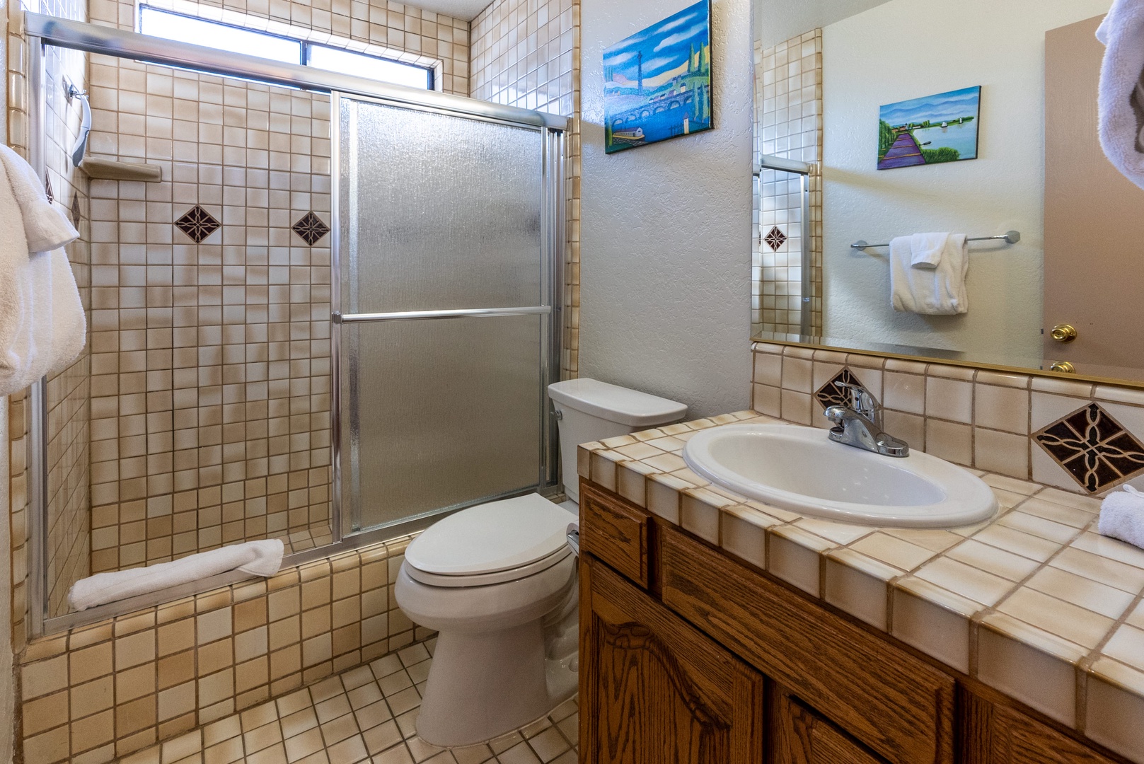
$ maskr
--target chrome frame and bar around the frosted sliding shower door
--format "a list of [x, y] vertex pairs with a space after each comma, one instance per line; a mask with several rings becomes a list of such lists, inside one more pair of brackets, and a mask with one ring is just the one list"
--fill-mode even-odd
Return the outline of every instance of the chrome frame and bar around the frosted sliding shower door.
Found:
[[[397, 311], [386, 313], [347, 313], [344, 312], [341, 270], [347, 264], [348, 242], [342, 241], [342, 174], [341, 159], [344, 148], [341, 145], [341, 132], [334, 127], [337, 121], [336, 116], [341, 113], [341, 102], [350, 100], [355, 102], [375, 103], [398, 109], [418, 109], [463, 119], [474, 119], [496, 125], [506, 125], [516, 128], [537, 130], [541, 133], [541, 199], [540, 199], [540, 280], [542, 285], [541, 304], [521, 308], [480, 308], [460, 310], [420, 310], [420, 311]], [[475, 102], [484, 103], [484, 102]], [[392, 523], [374, 530], [365, 530], [360, 533], [349, 533], [347, 527], [345, 496], [343, 496], [342, 485], [345, 475], [345, 457], [342, 453], [342, 428], [345, 422], [340, 416], [342, 408], [342, 358], [347, 355], [342, 347], [342, 327], [347, 324], [370, 324], [379, 321], [406, 321], [406, 320], [448, 320], [459, 318], [495, 318], [505, 316], [540, 316], [547, 324], [543, 325], [540, 343], [540, 411], [537, 415], [541, 422], [540, 444], [540, 469], [537, 476], [539, 491], [551, 491], [559, 483], [559, 441], [557, 437], [555, 411], [548, 399], [548, 385], [558, 382], [561, 379], [561, 357], [564, 336], [564, 247], [565, 230], [565, 178], [566, 178], [566, 137], [565, 127], [554, 125], [538, 125], [534, 121], [522, 121], [517, 116], [492, 116], [486, 110], [443, 109], [434, 104], [413, 105], [406, 102], [395, 102], [392, 100], [374, 96], [363, 97], [352, 93], [334, 93], [331, 97], [331, 198], [333, 200], [333, 221], [331, 228], [332, 238], [332, 261], [331, 261], [331, 446], [333, 476], [332, 476], [332, 531], [334, 542], [342, 542], [347, 539], [397, 538], [414, 533], [428, 527], [431, 523], [440, 519], [451, 511], [463, 509], [472, 503], [482, 503], [500, 498], [519, 495], [521, 492], [507, 494], [506, 496], [490, 496], [479, 501], [470, 502], [442, 510], [429, 515], [420, 515], [411, 519]], [[563, 119], [563, 118], [562, 118]]]

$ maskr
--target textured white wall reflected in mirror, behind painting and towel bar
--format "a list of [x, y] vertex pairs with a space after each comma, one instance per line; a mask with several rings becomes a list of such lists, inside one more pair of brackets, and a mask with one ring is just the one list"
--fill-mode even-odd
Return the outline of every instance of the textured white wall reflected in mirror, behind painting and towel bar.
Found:
[[[891, 0], [824, 29], [824, 334], [1036, 365], [1041, 353], [1044, 32], [1109, 0]], [[882, 104], [983, 86], [978, 159], [879, 172]], [[887, 249], [919, 231], [994, 236], [971, 245], [969, 313], [890, 308]]]

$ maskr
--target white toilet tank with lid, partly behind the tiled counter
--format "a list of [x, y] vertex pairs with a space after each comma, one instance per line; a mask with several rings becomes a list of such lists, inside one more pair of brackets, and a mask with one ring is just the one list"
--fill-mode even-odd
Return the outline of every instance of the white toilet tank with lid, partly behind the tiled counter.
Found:
[[557, 411], [564, 493], [579, 503], [577, 446], [678, 422], [688, 413], [681, 403], [598, 380], [565, 380], [548, 385]]

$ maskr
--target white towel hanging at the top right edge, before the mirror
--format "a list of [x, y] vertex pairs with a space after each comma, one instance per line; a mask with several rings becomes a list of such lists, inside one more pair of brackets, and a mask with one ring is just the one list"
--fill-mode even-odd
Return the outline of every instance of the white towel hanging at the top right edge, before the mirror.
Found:
[[1096, 39], [1106, 46], [1101, 65], [1101, 148], [1109, 161], [1144, 189], [1144, 2], [1114, 0]]

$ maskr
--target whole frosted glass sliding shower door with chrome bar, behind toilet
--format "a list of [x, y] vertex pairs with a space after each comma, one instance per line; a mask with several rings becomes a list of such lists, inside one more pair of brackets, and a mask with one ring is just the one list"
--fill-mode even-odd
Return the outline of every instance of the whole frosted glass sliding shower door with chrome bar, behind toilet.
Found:
[[343, 534], [553, 482], [553, 135], [334, 102]]

